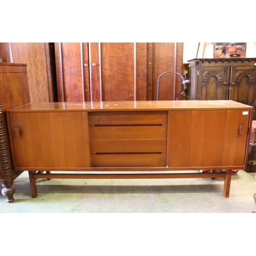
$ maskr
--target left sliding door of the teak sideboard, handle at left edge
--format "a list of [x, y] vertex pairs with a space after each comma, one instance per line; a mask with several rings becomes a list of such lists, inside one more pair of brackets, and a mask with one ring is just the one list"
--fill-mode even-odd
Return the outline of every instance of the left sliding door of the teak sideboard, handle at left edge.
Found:
[[88, 168], [87, 112], [11, 113], [17, 168]]

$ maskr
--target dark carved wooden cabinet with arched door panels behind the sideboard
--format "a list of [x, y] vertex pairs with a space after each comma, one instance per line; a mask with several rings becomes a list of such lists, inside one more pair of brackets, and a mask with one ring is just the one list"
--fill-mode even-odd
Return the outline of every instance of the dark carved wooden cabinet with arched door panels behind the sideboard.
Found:
[[256, 58], [191, 59], [188, 79], [188, 100], [230, 99], [256, 106]]

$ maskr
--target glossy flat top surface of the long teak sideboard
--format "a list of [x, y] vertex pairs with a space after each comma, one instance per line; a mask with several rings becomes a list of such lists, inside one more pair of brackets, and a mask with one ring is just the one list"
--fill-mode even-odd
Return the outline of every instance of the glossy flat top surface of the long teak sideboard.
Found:
[[232, 100], [177, 100], [177, 101], [92, 101], [92, 102], [41, 102], [28, 103], [11, 110], [14, 112], [59, 111], [157, 111], [198, 109], [245, 109], [252, 107]]

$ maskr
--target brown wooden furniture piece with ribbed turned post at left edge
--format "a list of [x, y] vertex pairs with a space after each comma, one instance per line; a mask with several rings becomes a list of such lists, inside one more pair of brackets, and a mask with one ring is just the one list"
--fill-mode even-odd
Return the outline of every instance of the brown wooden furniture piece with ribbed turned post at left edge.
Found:
[[25, 64], [0, 63], [0, 183], [7, 202], [12, 202], [13, 180], [21, 173], [14, 171], [11, 161], [6, 123], [6, 110], [30, 102]]

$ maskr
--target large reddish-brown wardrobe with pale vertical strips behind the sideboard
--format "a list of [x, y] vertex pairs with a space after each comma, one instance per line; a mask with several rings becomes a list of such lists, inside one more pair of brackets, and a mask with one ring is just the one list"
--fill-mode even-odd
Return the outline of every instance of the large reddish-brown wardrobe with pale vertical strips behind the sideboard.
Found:
[[[58, 101], [156, 100], [157, 79], [182, 74], [183, 43], [55, 42]], [[181, 99], [181, 78], [161, 78], [159, 100]]]

